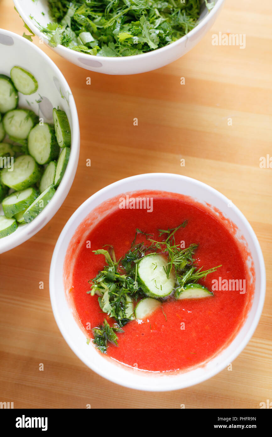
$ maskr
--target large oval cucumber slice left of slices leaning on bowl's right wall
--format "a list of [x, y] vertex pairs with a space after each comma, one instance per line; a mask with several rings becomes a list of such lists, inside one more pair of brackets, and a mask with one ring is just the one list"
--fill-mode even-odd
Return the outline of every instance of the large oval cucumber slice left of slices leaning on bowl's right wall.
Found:
[[38, 164], [47, 164], [59, 156], [53, 125], [36, 125], [28, 135], [28, 152]]

